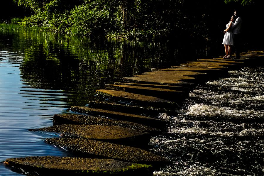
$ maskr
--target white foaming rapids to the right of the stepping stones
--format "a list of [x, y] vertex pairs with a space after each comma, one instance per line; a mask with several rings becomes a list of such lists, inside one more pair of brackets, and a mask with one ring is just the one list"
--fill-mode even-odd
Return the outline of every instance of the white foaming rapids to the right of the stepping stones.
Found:
[[150, 142], [174, 163], [155, 175], [264, 175], [263, 76], [245, 67], [196, 87]]

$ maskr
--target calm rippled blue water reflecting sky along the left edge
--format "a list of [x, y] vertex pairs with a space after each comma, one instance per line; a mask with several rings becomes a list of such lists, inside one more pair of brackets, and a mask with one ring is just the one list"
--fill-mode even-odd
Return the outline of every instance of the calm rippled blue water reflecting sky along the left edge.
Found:
[[[51, 126], [53, 115], [61, 114], [67, 103], [54, 103], [48, 97], [52, 94], [55, 99], [61, 99], [67, 95], [59, 90], [34, 89], [27, 85], [20, 75], [23, 58], [19, 55], [23, 53], [0, 52], [0, 160], [27, 155], [66, 155], [45, 145], [45, 136], [27, 129]], [[19, 174], [0, 165], [0, 175]]]

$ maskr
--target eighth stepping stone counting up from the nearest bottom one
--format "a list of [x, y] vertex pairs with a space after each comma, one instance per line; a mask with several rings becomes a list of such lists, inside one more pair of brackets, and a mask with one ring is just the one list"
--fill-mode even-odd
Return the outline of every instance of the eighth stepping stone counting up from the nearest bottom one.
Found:
[[154, 88], [154, 87], [141, 87], [141, 86], [116, 85], [116, 84], [105, 84], [105, 89], [158, 97], [170, 101], [173, 101], [175, 99], [177, 100], [181, 99], [183, 101], [189, 96], [189, 89], [185, 91], [177, 91], [177, 90]]

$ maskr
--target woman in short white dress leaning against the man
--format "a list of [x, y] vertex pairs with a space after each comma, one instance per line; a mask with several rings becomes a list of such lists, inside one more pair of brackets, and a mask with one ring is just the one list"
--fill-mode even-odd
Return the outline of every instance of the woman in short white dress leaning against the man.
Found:
[[232, 49], [232, 45], [234, 45], [234, 34], [232, 32], [232, 30], [229, 30], [231, 28], [231, 26], [234, 24], [233, 21], [235, 21], [236, 16], [232, 15], [231, 20], [229, 21], [229, 23], [226, 24], [226, 30], [224, 30], [224, 39], [223, 39], [223, 43], [225, 46], [225, 52], [226, 55], [224, 56], [224, 59], [231, 59], [232, 57], [232, 53], [231, 53], [231, 49]]

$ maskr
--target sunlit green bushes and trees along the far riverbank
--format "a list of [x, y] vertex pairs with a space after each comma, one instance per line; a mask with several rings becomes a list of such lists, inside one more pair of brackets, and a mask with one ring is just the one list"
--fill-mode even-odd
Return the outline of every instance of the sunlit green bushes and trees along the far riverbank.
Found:
[[[226, 0], [231, 1], [231, 0]], [[233, 0], [237, 1], [237, 0]], [[245, 0], [244, 0], [245, 1]], [[251, 0], [248, 0], [251, 1]], [[23, 26], [111, 38], [209, 38], [210, 0], [14, 0], [34, 14]], [[189, 22], [191, 21], [191, 23]]]

